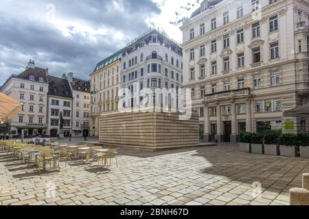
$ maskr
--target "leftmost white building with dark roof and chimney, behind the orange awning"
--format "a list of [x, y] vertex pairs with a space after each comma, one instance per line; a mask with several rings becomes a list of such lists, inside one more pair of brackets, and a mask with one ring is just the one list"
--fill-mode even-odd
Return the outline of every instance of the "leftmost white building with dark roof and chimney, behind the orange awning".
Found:
[[0, 125], [0, 133], [19, 138], [47, 134], [48, 69], [38, 68], [30, 60], [25, 71], [12, 75], [1, 87], [1, 92], [23, 104], [23, 110], [11, 120]]

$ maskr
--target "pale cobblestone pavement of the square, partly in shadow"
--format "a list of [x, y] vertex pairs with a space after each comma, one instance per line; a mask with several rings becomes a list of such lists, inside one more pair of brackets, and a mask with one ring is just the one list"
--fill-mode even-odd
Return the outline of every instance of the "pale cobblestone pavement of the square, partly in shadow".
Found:
[[[309, 159], [242, 153], [231, 144], [120, 151], [111, 171], [75, 162], [41, 176], [0, 153], [0, 205], [288, 205], [304, 172]], [[262, 184], [258, 197], [253, 182]]]

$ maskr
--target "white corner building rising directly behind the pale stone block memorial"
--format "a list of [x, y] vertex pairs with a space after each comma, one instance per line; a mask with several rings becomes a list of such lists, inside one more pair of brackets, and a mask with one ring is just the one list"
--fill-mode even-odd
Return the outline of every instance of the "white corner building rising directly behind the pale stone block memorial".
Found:
[[[159, 30], [150, 29], [124, 50], [121, 87], [131, 93], [144, 88], [182, 88], [182, 49]], [[144, 96], [132, 96], [125, 107], [138, 107]], [[150, 103], [163, 103], [162, 97], [150, 96]]]

